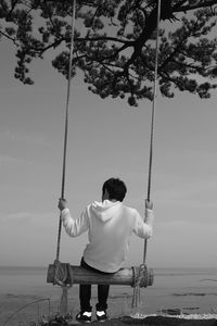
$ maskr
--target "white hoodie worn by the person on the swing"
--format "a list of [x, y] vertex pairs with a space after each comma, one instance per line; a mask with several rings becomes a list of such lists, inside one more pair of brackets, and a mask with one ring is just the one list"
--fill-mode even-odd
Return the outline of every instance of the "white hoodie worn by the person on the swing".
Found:
[[68, 209], [61, 213], [65, 230], [71, 237], [89, 230], [84, 260], [93, 268], [106, 273], [115, 273], [123, 267], [132, 231], [141, 238], [152, 236], [153, 211], [146, 210], [145, 215], [144, 223], [137, 210], [120, 201], [110, 200], [94, 201], [77, 220], [71, 216]]

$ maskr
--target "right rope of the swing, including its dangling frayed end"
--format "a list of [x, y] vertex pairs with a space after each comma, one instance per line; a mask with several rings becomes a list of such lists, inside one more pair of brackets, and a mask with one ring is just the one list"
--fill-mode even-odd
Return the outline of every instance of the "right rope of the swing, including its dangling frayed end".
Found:
[[[157, 22], [156, 22], [156, 48], [155, 48], [155, 68], [154, 68], [154, 85], [153, 85], [153, 102], [152, 102], [152, 118], [151, 118], [151, 138], [150, 138], [150, 160], [149, 160], [149, 179], [148, 179], [148, 196], [146, 200], [150, 201], [151, 196], [151, 185], [152, 185], [152, 161], [153, 161], [153, 143], [154, 143], [154, 121], [155, 121], [155, 106], [156, 106], [156, 97], [157, 97], [157, 71], [158, 71], [158, 35], [159, 35], [159, 21], [161, 21], [161, 0], [157, 3]], [[146, 210], [145, 210], [146, 214]], [[146, 215], [145, 215], [146, 220]], [[146, 260], [146, 246], [148, 241], [144, 240], [144, 251], [143, 251], [143, 264]], [[142, 266], [141, 265], [141, 266]], [[133, 288], [133, 297], [131, 308], [137, 309], [140, 305], [140, 285], [136, 284]]]

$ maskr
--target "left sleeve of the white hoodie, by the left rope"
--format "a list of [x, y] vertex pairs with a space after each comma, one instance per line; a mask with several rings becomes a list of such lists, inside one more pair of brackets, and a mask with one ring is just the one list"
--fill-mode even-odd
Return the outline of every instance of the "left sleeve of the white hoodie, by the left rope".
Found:
[[74, 220], [71, 215], [68, 209], [64, 209], [61, 212], [61, 220], [63, 222], [63, 226], [65, 227], [65, 231], [71, 237], [77, 237], [88, 230], [89, 228], [89, 218], [88, 218], [88, 210], [86, 209], [78, 218]]

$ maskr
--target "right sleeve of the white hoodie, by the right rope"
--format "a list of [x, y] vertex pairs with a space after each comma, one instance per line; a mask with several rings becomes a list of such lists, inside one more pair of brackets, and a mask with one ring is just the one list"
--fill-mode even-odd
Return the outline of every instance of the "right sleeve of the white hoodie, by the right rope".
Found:
[[135, 211], [135, 228], [133, 233], [140, 238], [149, 239], [153, 234], [154, 214], [152, 210], [145, 210], [145, 222], [140, 214]]

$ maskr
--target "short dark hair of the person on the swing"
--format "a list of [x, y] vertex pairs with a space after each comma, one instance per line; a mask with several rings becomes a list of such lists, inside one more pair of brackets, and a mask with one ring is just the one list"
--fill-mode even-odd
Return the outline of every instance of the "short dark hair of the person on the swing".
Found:
[[125, 183], [118, 178], [110, 178], [108, 180], [106, 180], [102, 186], [103, 195], [105, 192], [105, 189], [108, 192], [110, 200], [115, 199], [118, 201], [123, 201], [127, 192], [127, 187]]

